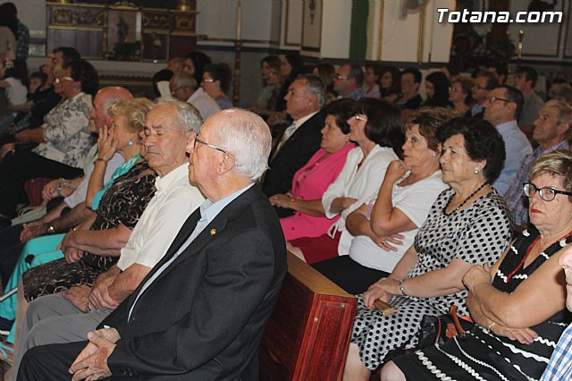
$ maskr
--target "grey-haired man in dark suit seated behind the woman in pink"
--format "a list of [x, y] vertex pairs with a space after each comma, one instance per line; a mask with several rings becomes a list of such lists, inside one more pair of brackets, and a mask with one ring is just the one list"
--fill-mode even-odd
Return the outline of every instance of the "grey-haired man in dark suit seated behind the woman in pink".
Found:
[[[324, 83], [318, 77], [308, 74], [294, 80], [284, 99], [286, 112], [294, 122], [270, 154], [270, 168], [262, 186], [269, 197], [290, 191], [296, 171], [320, 148], [320, 131], [324, 128], [324, 114], [320, 109], [326, 103], [326, 96]], [[282, 212], [285, 212], [283, 216], [293, 214], [291, 209], [282, 209]]]

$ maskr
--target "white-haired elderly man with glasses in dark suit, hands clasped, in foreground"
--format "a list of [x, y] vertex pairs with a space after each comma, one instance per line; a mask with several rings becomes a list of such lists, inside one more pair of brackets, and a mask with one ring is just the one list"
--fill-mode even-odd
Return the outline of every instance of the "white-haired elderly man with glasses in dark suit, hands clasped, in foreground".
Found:
[[205, 204], [88, 343], [32, 348], [18, 379], [63, 379], [68, 369], [73, 380], [256, 379], [257, 346], [286, 273], [282, 229], [255, 183], [270, 144], [248, 111], [209, 118], [188, 147], [189, 180]]

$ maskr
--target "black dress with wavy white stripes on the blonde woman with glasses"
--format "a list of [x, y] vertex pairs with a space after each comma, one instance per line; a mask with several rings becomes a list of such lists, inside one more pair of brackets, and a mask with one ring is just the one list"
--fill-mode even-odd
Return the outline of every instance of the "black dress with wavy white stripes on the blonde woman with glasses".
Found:
[[[538, 236], [539, 233], [533, 226], [517, 238], [492, 280], [495, 288], [502, 292], [513, 292], [528, 275], [572, 241], [572, 237], [568, 237], [554, 242], [523, 268], [520, 264], [524, 262], [526, 251]], [[526, 313], [526, 309], [523, 309], [523, 313]], [[539, 336], [531, 344], [521, 344], [475, 326], [447, 343], [393, 361], [408, 379], [414, 380], [536, 380], [542, 376], [554, 346], [569, 321], [570, 313], [567, 309], [562, 309], [542, 324], [532, 326]]]

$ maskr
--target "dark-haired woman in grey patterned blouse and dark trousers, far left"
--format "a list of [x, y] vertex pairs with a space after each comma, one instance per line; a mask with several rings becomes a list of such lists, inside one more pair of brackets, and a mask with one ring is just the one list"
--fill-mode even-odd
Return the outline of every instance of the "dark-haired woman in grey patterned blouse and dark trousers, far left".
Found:
[[88, 150], [91, 97], [98, 87], [96, 69], [85, 60], [63, 63], [55, 79], [63, 102], [45, 117], [42, 128], [17, 135], [24, 143], [37, 142], [31, 151], [6, 155], [0, 165], [0, 227], [10, 224], [24, 182], [35, 177], [72, 179], [83, 174]]

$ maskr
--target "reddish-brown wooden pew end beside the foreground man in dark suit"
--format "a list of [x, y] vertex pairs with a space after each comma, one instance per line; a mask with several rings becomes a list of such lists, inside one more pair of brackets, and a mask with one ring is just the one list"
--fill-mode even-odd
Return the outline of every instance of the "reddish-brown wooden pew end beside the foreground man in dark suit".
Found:
[[341, 380], [357, 299], [288, 252], [288, 274], [260, 345], [263, 381]]

